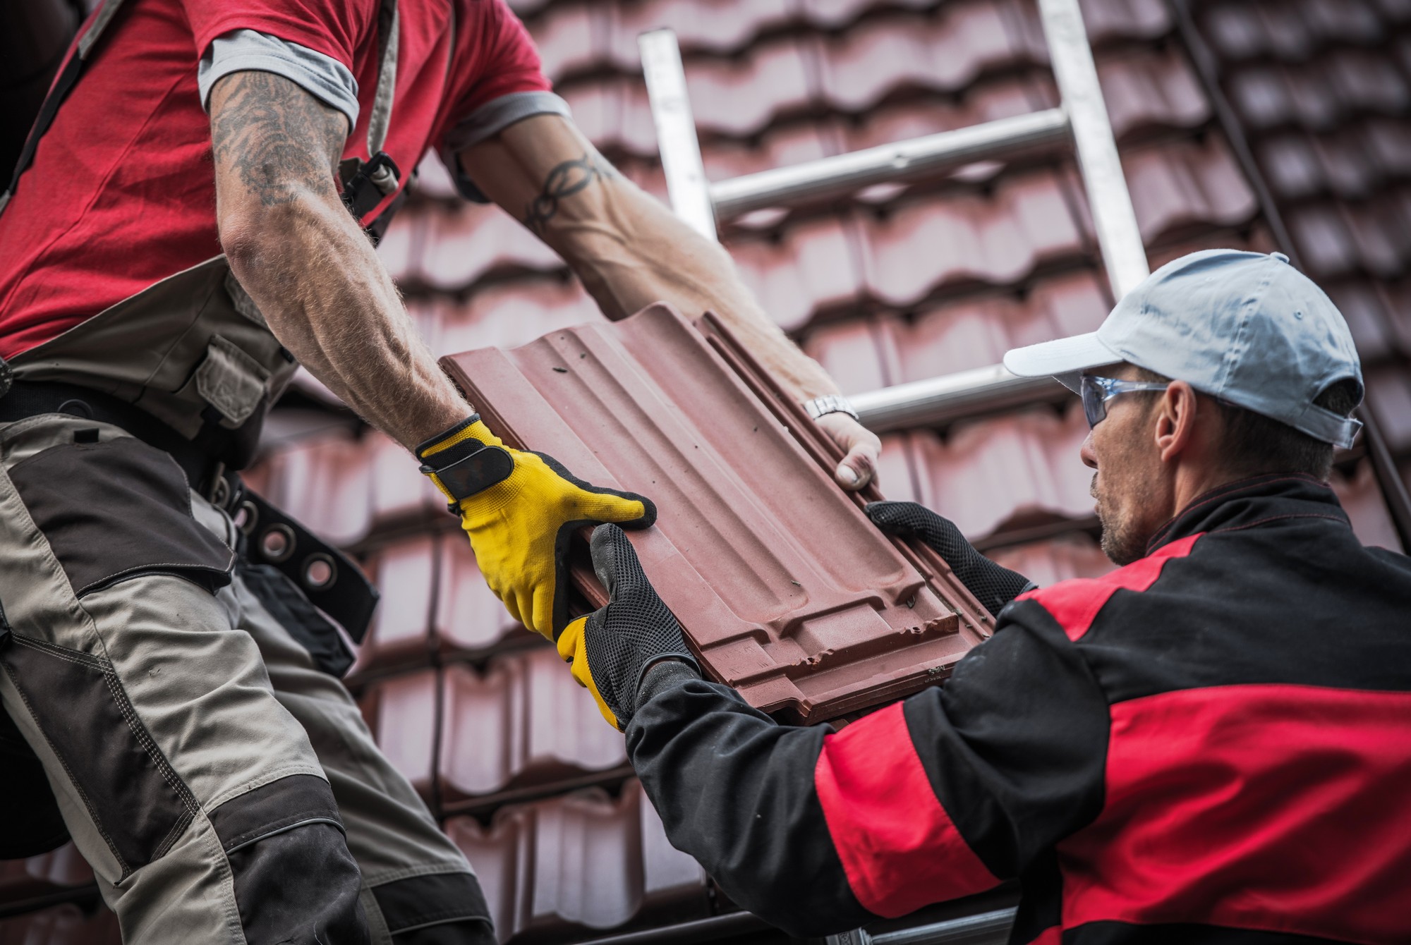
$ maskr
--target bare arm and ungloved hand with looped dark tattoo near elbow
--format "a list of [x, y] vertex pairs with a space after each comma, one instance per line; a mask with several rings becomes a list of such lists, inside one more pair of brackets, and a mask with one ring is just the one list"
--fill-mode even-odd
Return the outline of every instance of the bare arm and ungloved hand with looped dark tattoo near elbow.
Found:
[[[838, 392], [759, 307], [729, 254], [622, 178], [571, 121], [525, 118], [464, 148], [460, 162], [476, 186], [573, 267], [610, 319], [659, 300], [691, 317], [710, 309], [799, 399]], [[821, 423], [847, 451], [849, 474], [840, 471], [840, 482], [861, 488], [880, 441], [842, 413]]]

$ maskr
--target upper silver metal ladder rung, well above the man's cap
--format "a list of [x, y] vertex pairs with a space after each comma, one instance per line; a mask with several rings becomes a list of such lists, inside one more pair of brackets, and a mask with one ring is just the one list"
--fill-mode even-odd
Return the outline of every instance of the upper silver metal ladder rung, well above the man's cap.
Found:
[[907, 181], [1068, 141], [1068, 116], [1062, 109], [1046, 109], [720, 181], [710, 185], [710, 197], [715, 219], [724, 220], [761, 207], [848, 193], [872, 183]]

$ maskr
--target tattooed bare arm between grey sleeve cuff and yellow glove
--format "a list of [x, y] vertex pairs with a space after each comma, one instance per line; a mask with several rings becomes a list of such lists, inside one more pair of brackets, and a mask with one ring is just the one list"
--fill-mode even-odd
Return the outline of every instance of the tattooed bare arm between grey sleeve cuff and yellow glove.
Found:
[[408, 449], [463, 420], [339, 197], [347, 120], [282, 76], [234, 72], [212, 89], [210, 130], [220, 244], [279, 343]]

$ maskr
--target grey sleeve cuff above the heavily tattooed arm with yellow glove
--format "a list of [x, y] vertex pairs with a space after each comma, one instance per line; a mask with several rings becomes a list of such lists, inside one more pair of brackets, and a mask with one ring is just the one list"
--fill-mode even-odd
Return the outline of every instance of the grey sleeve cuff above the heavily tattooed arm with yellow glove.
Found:
[[202, 109], [209, 110], [210, 87], [216, 79], [231, 72], [284, 76], [323, 104], [341, 111], [350, 130], [357, 126], [357, 79], [333, 56], [255, 30], [234, 30], [216, 37], [196, 68]]

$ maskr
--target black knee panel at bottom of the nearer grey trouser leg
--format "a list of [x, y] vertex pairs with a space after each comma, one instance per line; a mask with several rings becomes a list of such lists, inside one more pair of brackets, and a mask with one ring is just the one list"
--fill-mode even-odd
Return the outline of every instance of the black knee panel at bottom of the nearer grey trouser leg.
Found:
[[293, 774], [210, 814], [250, 945], [364, 945], [361, 874], [327, 781]]

